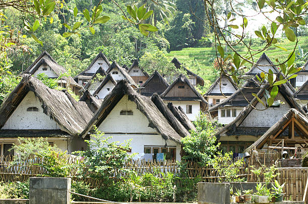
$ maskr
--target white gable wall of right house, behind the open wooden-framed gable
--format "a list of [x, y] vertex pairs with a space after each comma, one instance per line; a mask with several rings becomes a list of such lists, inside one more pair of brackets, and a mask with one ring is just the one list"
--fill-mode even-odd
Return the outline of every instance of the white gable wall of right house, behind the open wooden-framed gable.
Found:
[[[278, 92], [275, 101], [280, 100], [284, 101], [284, 104], [280, 104], [280, 108], [268, 108], [266, 110], [256, 110], [253, 109], [245, 120], [242, 122], [240, 127], [271, 127], [273, 126], [281, 117], [287, 112], [291, 107], [285, 101], [283, 96]], [[265, 101], [265, 98], [262, 97], [262, 101]], [[264, 102], [265, 103], [265, 102]], [[256, 105], [257, 109], [264, 109], [263, 104], [258, 103]]]

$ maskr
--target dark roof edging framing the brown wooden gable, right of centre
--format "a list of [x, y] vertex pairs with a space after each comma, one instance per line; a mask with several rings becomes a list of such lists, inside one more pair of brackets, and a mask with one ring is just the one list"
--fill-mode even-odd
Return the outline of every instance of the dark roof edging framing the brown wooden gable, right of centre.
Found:
[[[168, 92], [178, 83], [183, 82], [188, 85], [188, 87], [196, 94], [196, 97], [177, 97], [174, 96], [172, 98], [166, 97]], [[200, 101], [202, 104], [202, 107], [206, 107], [208, 103], [203, 98], [203, 96], [195, 89], [195, 87], [190, 83], [190, 81], [182, 74], [179, 75], [179, 77], [160, 95], [164, 100], [174, 100], [174, 101]]]

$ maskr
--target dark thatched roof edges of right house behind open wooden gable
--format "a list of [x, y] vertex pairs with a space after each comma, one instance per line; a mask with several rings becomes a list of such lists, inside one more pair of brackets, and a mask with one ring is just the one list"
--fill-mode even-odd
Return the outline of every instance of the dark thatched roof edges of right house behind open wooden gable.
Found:
[[[257, 94], [260, 99], [262, 99], [262, 97], [265, 93], [265, 89], [268, 89], [268, 87], [269, 86], [266, 85], [265, 87], [260, 89], [260, 91]], [[298, 110], [302, 114], [305, 114], [304, 111], [302, 110], [302, 108], [296, 103], [295, 99], [293, 98], [292, 94], [288, 91], [285, 84], [279, 85], [278, 88], [279, 88], [278, 93], [281, 93], [281, 95], [285, 98], [286, 102], [291, 106], [291, 108], [295, 108], [296, 110]], [[256, 105], [257, 105], [257, 103], [259, 103], [259, 101], [257, 100], [257, 98], [254, 98], [250, 103], [251, 103], [251, 105], [248, 104], [234, 121], [227, 124], [226, 126], [221, 128], [216, 133], [217, 138], [219, 138], [221, 134], [224, 134], [229, 130], [230, 131], [236, 131], [236, 128], [241, 125], [241, 123], [245, 120], [245, 118], [248, 116], [248, 114], [254, 109], [254, 107], [256, 107]]]

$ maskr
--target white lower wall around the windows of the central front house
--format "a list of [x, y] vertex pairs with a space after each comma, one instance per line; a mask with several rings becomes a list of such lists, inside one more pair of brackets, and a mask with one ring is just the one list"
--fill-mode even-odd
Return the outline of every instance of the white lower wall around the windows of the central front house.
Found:
[[[131, 152], [138, 153], [135, 158], [142, 158], [142, 154], [144, 153], [144, 146], [165, 146], [167, 142], [167, 147], [176, 147], [176, 159], [178, 161], [181, 160], [181, 145], [172, 140], [165, 140], [161, 135], [145, 135], [145, 134], [105, 134], [106, 137], [112, 136], [109, 140], [111, 142], [118, 141], [119, 143], [124, 142], [125, 140], [131, 140]], [[92, 138], [93, 139], [93, 138]]]

